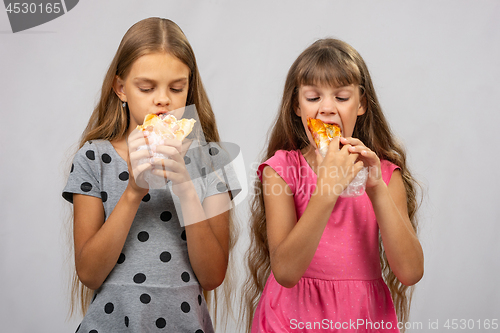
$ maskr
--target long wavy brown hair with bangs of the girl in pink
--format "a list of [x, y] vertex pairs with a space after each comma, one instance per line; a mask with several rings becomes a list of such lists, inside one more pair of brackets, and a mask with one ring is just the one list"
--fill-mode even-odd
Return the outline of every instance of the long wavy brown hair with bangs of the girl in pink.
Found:
[[[359, 53], [349, 44], [336, 39], [318, 40], [309, 46], [292, 64], [285, 82], [280, 111], [269, 135], [269, 144], [261, 162], [278, 150], [297, 150], [310, 145], [301, 118], [295, 114], [298, 89], [301, 85], [359, 86], [366, 112], [358, 116], [353, 137], [360, 139], [381, 159], [401, 168], [408, 214], [417, 230], [417, 186], [406, 165], [406, 153], [390, 130], [377, 99], [368, 68]], [[250, 331], [260, 295], [271, 272], [267, 241], [266, 215], [262, 183], [254, 182], [255, 195], [250, 205], [250, 248], [247, 253], [249, 276], [244, 284], [245, 308], [240, 313], [242, 322]], [[403, 285], [392, 272], [379, 237], [380, 263], [383, 278], [388, 285], [400, 322], [408, 321], [412, 287]]]

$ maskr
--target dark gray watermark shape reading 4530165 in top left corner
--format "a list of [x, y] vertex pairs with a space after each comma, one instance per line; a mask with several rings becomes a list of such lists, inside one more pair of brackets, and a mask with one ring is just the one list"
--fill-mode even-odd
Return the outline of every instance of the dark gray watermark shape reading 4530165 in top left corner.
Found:
[[73, 9], [79, 0], [4, 0], [12, 32], [30, 29], [52, 21]]

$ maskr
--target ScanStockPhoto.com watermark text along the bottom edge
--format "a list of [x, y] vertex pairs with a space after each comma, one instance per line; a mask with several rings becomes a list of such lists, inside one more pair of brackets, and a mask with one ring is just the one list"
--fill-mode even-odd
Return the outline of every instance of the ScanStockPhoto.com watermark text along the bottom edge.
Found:
[[348, 321], [334, 321], [330, 319], [323, 319], [321, 321], [300, 321], [297, 319], [290, 320], [290, 329], [292, 330], [391, 330], [398, 329], [423, 329], [422, 322], [406, 322], [406, 323], [393, 323], [391, 321], [370, 321], [366, 319], [357, 319]]

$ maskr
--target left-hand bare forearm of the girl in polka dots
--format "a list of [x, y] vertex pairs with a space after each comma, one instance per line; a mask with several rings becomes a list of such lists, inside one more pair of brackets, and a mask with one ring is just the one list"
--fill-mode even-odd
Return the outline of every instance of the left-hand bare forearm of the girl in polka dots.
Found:
[[127, 188], [106, 222], [75, 253], [78, 275], [87, 287], [99, 288], [116, 265], [141, 199]]

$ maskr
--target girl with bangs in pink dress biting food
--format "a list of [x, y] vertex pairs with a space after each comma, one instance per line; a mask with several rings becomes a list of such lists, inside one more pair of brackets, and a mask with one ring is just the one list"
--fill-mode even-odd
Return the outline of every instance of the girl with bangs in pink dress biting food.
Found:
[[[342, 130], [324, 158], [308, 117]], [[341, 197], [363, 166], [366, 192]], [[351, 46], [319, 40], [293, 63], [258, 176], [248, 329], [399, 332], [423, 275], [415, 181]]]

